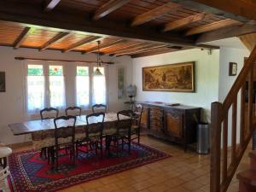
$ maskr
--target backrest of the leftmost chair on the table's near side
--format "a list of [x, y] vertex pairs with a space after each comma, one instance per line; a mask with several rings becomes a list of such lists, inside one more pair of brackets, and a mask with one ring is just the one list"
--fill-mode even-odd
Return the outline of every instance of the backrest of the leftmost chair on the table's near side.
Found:
[[75, 139], [76, 116], [61, 116], [54, 119], [55, 123], [55, 145], [58, 145], [59, 138], [72, 137], [72, 143]]

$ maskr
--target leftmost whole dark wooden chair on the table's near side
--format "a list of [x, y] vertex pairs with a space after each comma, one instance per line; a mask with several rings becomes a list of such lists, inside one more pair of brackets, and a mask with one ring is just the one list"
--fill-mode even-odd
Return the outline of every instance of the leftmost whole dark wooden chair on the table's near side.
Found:
[[[73, 160], [73, 165], [75, 164], [75, 124], [76, 116], [61, 116], [54, 119], [55, 123], [55, 146], [50, 148], [50, 154], [53, 165], [55, 164], [55, 169], [58, 170], [59, 167], [59, 152], [61, 149], [69, 149], [70, 159]], [[58, 121], [61, 124], [67, 123], [66, 126], [59, 126]], [[70, 121], [72, 123], [70, 124]], [[63, 154], [62, 154], [63, 155]]]

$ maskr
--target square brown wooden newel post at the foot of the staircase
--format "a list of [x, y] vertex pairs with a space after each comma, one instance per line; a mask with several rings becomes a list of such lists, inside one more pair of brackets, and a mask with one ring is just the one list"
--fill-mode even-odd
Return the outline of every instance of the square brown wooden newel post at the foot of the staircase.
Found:
[[220, 191], [220, 153], [221, 153], [222, 103], [212, 102], [211, 107], [211, 175], [210, 191]]

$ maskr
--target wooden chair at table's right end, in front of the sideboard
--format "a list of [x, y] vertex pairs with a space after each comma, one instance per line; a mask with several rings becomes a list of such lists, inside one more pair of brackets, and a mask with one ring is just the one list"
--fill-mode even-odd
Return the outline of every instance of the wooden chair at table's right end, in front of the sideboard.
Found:
[[131, 125], [131, 141], [137, 139], [137, 143], [139, 144], [140, 137], [141, 137], [141, 120], [142, 120], [142, 113], [143, 113], [143, 105], [134, 104], [132, 105], [131, 110], [132, 110], [132, 116], [133, 116], [133, 121]]

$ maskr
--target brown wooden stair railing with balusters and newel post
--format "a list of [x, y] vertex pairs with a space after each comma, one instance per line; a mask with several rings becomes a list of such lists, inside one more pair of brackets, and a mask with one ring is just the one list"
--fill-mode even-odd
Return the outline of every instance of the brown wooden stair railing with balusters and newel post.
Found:
[[[239, 73], [224, 102], [212, 102], [211, 192], [227, 191], [242, 155], [253, 137], [253, 131], [256, 127], [256, 117], [253, 115], [253, 66], [255, 61], [256, 46], [245, 62], [241, 73]], [[241, 107], [240, 111], [237, 111], [238, 104]], [[239, 125], [237, 125], [238, 115], [240, 116]], [[229, 123], [231, 123], [230, 135], [228, 131]], [[240, 132], [240, 139], [236, 136], [237, 131]], [[229, 137], [231, 138], [230, 150], [228, 150]], [[236, 140], [240, 140], [240, 143], [237, 143]]]

